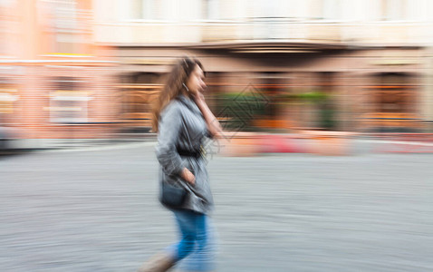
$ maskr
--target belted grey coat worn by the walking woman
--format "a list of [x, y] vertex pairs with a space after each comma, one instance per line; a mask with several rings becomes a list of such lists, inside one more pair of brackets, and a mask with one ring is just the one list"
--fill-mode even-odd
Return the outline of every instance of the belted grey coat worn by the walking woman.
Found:
[[[207, 176], [206, 160], [180, 156], [181, 151], [200, 151], [202, 142], [208, 137], [207, 124], [195, 102], [184, 95], [172, 100], [159, 117], [158, 145], [159, 184], [168, 182], [180, 184], [188, 190], [188, 197], [181, 207], [200, 213], [208, 213], [214, 205]], [[196, 177], [196, 184], [190, 185], [180, 177], [184, 168]], [[159, 189], [160, 191], [160, 189]]]

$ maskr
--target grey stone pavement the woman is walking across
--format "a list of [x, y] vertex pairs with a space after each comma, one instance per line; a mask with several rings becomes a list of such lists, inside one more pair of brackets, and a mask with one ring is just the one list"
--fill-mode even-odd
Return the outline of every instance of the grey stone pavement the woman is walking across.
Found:
[[[433, 156], [214, 157], [217, 271], [432, 271]], [[176, 239], [151, 144], [0, 158], [2, 271], [135, 271]]]

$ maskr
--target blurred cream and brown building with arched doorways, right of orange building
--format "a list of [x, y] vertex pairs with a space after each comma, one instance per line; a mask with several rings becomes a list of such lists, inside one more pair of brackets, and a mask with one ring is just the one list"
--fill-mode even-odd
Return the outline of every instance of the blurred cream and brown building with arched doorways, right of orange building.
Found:
[[[265, 93], [257, 126], [422, 131], [433, 120], [432, 8], [427, 0], [96, 0], [95, 32], [123, 67], [121, 90], [137, 98], [124, 113], [136, 120], [146, 119], [168, 64], [193, 55], [206, 67], [208, 96]], [[308, 97], [318, 99], [299, 99]]]

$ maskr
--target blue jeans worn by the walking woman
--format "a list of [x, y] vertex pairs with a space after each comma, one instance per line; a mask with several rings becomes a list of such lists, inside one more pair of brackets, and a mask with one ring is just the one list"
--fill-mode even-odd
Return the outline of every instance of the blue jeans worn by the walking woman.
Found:
[[211, 271], [215, 268], [215, 234], [210, 219], [188, 209], [174, 210], [180, 241], [169, 248], [182, 270]]

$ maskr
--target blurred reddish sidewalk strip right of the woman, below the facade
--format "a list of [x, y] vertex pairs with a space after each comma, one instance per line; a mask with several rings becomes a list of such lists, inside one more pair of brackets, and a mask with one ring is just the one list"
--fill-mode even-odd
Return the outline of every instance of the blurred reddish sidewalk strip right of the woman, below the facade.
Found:
[[240, 132], [226, 137], [223, 154], [312, 153], [345, 156], [362, 152], [433, 153], [433, 134], [370, 134], [347, 131], [301, 131], [290, 134]]

